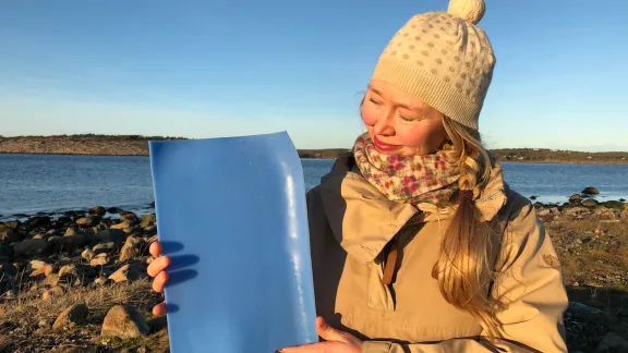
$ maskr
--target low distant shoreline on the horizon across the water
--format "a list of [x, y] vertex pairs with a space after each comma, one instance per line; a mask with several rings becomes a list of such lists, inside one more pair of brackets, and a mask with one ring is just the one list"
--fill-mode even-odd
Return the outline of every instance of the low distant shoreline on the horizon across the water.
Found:
[[[53, 135], [0, 136], [2, 155], [56, 155], [147, 157], [149, 141], [186, 139], [140, 135]], [[298, 149], [305, 159], [335, 159], [348, 148]], [[628, 166], [628, 151], [584, 153], [541, 148], [500, 148], [491, 150], [502, 162], [546, 165]]]

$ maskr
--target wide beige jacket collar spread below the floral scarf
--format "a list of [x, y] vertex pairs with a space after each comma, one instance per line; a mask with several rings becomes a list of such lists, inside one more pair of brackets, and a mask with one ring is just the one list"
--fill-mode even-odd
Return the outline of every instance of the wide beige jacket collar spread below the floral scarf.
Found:
[[[491, 181], [475, 200], [485, 220], [493, 219], [506, 203], [506, 188], [503, 170], [495, 163]], [[349, 255], [365, 264], [373, 261], [410, 219], [412, 223], [440, 221], [457, 208], [391, 202], [360, 174], [351, 156], [336, 161], [319, 190], [334, 236]]]

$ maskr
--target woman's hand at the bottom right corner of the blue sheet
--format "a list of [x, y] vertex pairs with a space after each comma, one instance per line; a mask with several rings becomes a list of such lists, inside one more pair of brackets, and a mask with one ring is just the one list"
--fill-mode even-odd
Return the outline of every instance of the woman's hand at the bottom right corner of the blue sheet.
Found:
[[353, 334], [337, 330], [322, 317], [316, 318], [316, 331], [324, 342], [285, 348], [280, 353], [362, 353], [362, 341]]

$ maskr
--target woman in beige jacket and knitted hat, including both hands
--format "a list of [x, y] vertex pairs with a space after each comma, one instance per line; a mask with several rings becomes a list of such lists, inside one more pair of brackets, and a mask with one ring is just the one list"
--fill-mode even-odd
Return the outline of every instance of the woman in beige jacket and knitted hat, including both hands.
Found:
[[[324, 341], [281, 352], [567, 351], [552, 242], [478, 132], [495, 65], [483, 14], [482, 0], [451, 0], [382, 53], [367, 132], [307, 193]], [[160, 292], [169, 259], [150, 251]]]

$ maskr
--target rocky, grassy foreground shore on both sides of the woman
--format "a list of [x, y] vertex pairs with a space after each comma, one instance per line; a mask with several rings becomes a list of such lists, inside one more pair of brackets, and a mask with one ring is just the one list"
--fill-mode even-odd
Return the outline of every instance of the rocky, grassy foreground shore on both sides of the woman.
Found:
[[[564, 266], [569, 351], [628, 352], [628, 206], [589, 196], [535, 205]], [[153, 214], [99, 206], [0, 222], [0, 352], [168, 352], [146, 276], [156, 232]]]

